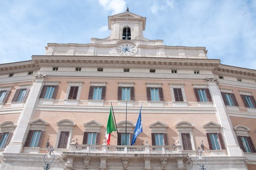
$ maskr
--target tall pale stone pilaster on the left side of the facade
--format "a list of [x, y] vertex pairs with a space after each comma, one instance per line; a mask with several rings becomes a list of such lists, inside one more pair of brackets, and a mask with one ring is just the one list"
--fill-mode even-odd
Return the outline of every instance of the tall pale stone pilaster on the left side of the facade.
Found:
[[46, 76], [42, 74], [35, 76], [34, 84], [30, 88], [28, 98], [17, 121], [17, 127], [14, 131], [13, 138], [5, 148], [4, 153], [21, 153], [24, 140], [26, 140], [25, 138], [29, 128], [29, 122], [34, 114], [34, 106], [39, 97], [45, 78]]

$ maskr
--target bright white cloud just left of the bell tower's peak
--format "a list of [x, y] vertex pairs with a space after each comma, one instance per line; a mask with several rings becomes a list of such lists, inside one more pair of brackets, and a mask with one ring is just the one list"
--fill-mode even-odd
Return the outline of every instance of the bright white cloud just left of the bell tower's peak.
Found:
[[104, 10], [112, 11], [111, 15], [125, 12], [124, 0], [98, 0]]

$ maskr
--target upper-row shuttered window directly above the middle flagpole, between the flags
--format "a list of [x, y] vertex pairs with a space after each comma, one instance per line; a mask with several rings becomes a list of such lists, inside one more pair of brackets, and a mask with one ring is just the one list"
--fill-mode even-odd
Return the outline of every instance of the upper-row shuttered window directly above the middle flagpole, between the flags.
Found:
[[134, 87], [118, 87], [119, 101], [134, 101]]

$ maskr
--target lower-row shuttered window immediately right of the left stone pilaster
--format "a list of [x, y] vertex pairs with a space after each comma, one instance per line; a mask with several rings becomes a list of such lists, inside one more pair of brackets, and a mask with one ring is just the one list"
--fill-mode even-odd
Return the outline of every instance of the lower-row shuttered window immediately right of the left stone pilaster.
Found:
[[45, 131], [30, 130], [24, 147], [41, 147]]

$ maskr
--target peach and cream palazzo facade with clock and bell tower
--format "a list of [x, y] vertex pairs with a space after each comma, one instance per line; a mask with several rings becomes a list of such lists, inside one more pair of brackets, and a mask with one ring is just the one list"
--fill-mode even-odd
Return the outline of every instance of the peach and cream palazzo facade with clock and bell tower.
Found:
[[256, 70], [148, 40], [145, 26], [127, 10], [107, 38], [1, 64], [0, 169], [43, 169], [49, 141], [54, 170], [255, 170]]

